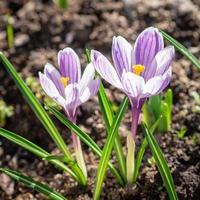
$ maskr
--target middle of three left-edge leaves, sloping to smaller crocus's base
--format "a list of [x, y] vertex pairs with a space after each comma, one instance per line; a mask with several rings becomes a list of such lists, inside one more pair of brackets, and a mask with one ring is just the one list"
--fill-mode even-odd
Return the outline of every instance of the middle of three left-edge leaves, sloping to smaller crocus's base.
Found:
[[[31, 153], [35, 154], [39, 158], [46, 158], [49, 156], [52, 156], [50, 153], [39, 147], [38, 145], [32, 143], [31, 141], [23, 138], [20, 135], [17, 135], [11, 131], [5, 130], [3, 128], [0, 128], [0, 136], [12, 141], [13, 143], [21, 146], [22, 148], [30, 151]], [[62, 162], [56, 159], [48, 160], [49, 163], [55, 165], [59, 169], [62, 169], [64, 172], [69, 173], [75, 180], [78, 180], [77, 175], [66, 165], [64, 165]]]

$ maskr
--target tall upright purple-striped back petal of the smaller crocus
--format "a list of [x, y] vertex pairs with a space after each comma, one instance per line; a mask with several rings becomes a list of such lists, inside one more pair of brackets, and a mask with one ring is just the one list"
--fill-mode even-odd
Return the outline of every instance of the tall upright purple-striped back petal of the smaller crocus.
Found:
[[58, 52], [58, 65], [63, 77], [69, 77], [69, 83], [79, 82], [81, 76], [80, 60], [75, 51], [65, 48]]

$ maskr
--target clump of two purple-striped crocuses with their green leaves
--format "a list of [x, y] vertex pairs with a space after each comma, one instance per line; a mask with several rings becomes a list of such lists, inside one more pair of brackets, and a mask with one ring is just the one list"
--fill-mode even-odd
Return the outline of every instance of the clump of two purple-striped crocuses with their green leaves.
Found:
[[[52, 155], [36, 144], [5, 129], [0, 128], [0, 135], [31, 151], [40, 158], [47, 160], [56, 167], [59, 167], [81, 185], [86, 185], [87, 170], [80, 143], [81, 139], [97, 156], [100, 157], [96, 175], [96, 186], [94, 188], [94, 200], [100, 198], [100, 192], [107, 168], [110, 169], [119, 184], [135, 184], [145, 149], [147, 145], [149, 145], [153, 154], [153, 162], [155, 161], [155, 164], [161, 173], [170, 199], [178, 199], [170, 170], [161, 149], [152, 135], [156, 128], [159, 127], [159, 116], [156, 116], [156, 119], [149, 123], [151, 124], [151, 127], [146, 127], [146, 125], [142, 123], [145, 138], [139, 147], [137, 156], [135, 156], [135, 139], [142, 107], [149, 97], [158, 95], [165, 90], [172, 77], [171, 64], [175, 55], [175, 50], [173, 46], [164, 48], [162, 34], [154, 27], [147, 28], [138, 36], [134, 47], [132, 47], [123, 37], [114, 37], [112, 43], [113, 65], [99, 51], [92, 50], [91, 53], [86, 51], [88, 65], [82, 76], [78, 55], [69, 47], [59, 51], [58, 68], [47, 63], [44, 67], [44, 72], [39, 72], [39, 80], [43, 90], [63, 109], [65, 115], [60, 113], [55, 107], [47, 106], [52, 114], [72, 131], [72, 141], [74, 144], [76, 160], [74, 160], [62, 136], [46, 111], [38, 102], [38, 99], [17, 74], [11, 63], [1, 53], [1, 62], [16, 82], [25, 99], [62, 154]], [[166, 37], [169, 38], [168, 35]], [[195, 63], [198, 62], [195, 60]], [[113, 111], [106, 96], [101, 78], [125, 93], [126, 97], [117, 111]], [[107, 131], [107, 138], [103, 149], [101, 149], [85, 131], [81, 130], [80, 127], [76, 125], [78, 108], [97, 93]], [[168, 96], [170, 96], [170, 98], [166, 97], [165, 101], [167, 102], [167, 99], [171, 100], [168, 101], [169, 115], [168, 119], [165, 120], [168, 126], [165, 130], [168, 130], [171, 122], [170, 112], [172, 108], [172, 92], [170, 92], [170, 95]], [[130, 102], [131, 106], [132, 127], [131, 132], [127, 133], [127, 156], [125, 162], [125, 155], [120, 135], [118, 134], [118, 128], [126, 111], [128, 102]], [[155, 102], [154, 107], [156, 107]], [[166, 102], [162, 102], [160, 105]], [[160, 111], [159, 113], [164, 112], [165, 110], [162, 110], [162, 112]], [[148, 112], [146, 112], [146, 115], [148, 115]], [[109, 161], [114, 145], [119, 170]], [[19, 178], [21, 175], [16, 174], [14, 171], [5, 170], [3, 168], [1, 168], [0, 171], [13, 176], [19, 181], [21, 180]], [[26, 177], [23, 176], [23, 182], [27, 183], [24, 181], [25, 179]], [[30, 182], [29, 179], [29, 186]], [[51, 189], [46, 190], [45, 186], [45, 189], [42, 190], [43, 185], [37, 184], [37, 182], [33, 181], [31, 187], [36, 190], [38, 189], [38, 191], [43, 191], [44, 194], [47, 194], [49, 191], [48, 195], [53, 194], [53, 199], [65, 199]]]

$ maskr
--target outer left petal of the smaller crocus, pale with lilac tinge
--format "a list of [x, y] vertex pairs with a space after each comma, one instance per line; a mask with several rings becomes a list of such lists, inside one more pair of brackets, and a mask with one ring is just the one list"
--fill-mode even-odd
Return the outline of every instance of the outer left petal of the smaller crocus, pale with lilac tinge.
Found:
[[40, 79], [40, 84], [43, 90], [46, 92], [46, 94], [50, 96], [52, 99], [54, 99], [58, 104], [63, 106], [65, 100], [58, 92], [58, 89], [56, 88], [54, 83], [41, 72], [39, 72], [39, 79]]

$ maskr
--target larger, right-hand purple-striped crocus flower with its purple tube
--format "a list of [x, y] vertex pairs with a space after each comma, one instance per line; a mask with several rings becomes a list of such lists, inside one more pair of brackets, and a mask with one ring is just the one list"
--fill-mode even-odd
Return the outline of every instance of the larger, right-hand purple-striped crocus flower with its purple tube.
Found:
[[163, 37], [154, 27], [145, 29], [138, 36], [134, 48], [121, 36], [113, 38], [115, 67], [100, 52], [91, 52], [92, 63], [100, 76], [130, 99], [133, 138], [145, 100], [162, 92], [170, 82], [174, 54], [174, 47], [164, 48]]

